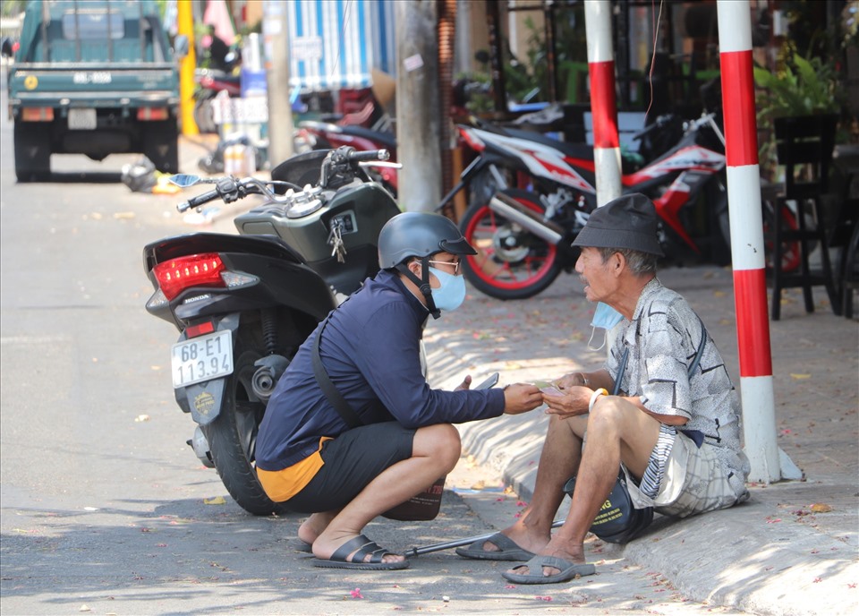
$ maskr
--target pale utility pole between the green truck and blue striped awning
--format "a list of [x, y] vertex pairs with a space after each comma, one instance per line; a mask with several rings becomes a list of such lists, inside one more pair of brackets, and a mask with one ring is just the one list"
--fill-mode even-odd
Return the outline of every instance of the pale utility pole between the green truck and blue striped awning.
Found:
[[266, 49], [268, 160], [275, 167], [293, 155], [293, 107], [289, 99], [289, 30], [286, 3], [266, 0], [262, 36]]

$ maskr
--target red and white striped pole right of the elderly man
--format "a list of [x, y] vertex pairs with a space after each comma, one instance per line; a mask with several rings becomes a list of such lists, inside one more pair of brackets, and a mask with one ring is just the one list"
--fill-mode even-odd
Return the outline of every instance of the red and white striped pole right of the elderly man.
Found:
[[781, 471], [763, 255], [752, 12], [749, 0], [719, 0], [717, 10], [745, 453], [752, 464], [749, 480], [770, 483], [781, 479]]

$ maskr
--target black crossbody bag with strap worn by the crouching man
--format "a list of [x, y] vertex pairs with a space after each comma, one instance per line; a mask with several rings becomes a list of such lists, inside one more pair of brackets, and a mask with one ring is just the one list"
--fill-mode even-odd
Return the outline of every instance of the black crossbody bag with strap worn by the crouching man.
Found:
[[[313, 339], [312, 361], [313, 374], [316, 376], [316, 381], [319, 387], [328, 398], [331, 406], [334, 406], [337, 413], [343, 417], [343, 420], [350, 428], [357, 428], [361, 423], [361, 418], [353, 410], [349, 403], [346, 402], [343, 394], [341, 394], [331, 378], [325, 371], [325, 366], [322, 365], [322, 358], [319, 357], [319, 339], [322, 338], [322, 330], [325, 329], [326, 322], [319, 328], [319, 333]], [[435, 483], [429, 486], [423, 492], [415, 494], [411, 499], [401, 502], [392, 509], [388, 509], [382, 514], [385, 518], [400, 520], [403, 522], [426, 522], [435, 519], [438, 516], [438, 509], [441, 509], [441, 496], [445, 491], [445, 480], [447, 475], [439, 477]]]

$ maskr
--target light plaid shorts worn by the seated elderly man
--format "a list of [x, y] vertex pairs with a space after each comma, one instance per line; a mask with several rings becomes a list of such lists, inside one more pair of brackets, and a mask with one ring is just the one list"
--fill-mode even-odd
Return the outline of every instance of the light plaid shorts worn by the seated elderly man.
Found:
[[653, 507], [665, 516], [685, 518], [705, 511], [726, 509], [744, 500], [737, 498], [728, 482], [728, 475], [716, 457], [716, 449], [707, 443], [699, 449], [682, 432], [676, 435], [655, 499], [639, 490], [625, 468], [624, 473], [635, 507]]

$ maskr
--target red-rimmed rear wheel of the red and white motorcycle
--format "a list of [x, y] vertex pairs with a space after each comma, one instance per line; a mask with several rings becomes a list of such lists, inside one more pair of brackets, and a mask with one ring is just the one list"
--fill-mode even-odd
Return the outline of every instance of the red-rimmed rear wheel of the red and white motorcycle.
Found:
[[[505, 193], [531, 210], [545, 210], [532, 193]], [[463, 261], [465, 278], [486, 295], [498, 299], [531, 297], [549, 287], [561, 272], [554, 244], [490, 210], [486, 203], [465, 210], [460, 229], [477, 251]]]

